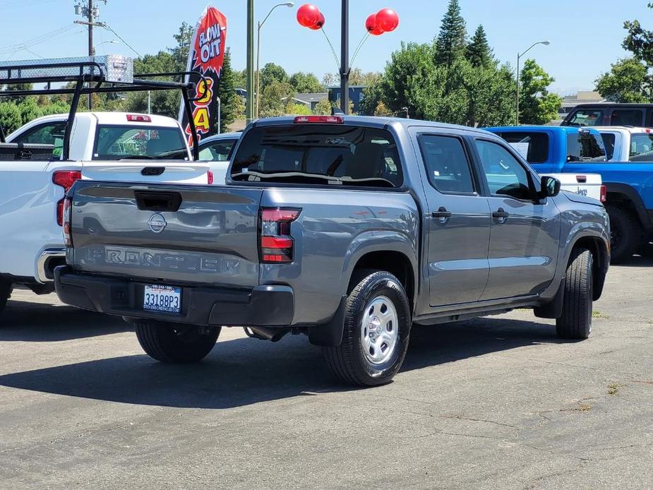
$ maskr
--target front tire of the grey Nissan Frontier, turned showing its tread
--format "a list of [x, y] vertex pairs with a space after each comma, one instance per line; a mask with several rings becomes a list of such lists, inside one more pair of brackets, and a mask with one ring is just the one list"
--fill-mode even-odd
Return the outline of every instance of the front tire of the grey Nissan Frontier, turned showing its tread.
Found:
[[558, 337], [582, 340], [592, 332], [592, 263], [587, 249], [574, 249], [565, 273], [563, 314], [556, 320]]

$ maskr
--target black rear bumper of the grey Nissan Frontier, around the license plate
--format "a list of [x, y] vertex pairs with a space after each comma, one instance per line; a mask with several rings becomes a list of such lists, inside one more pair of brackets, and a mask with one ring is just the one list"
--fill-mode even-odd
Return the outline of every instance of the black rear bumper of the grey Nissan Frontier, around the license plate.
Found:
[[129, 318], [151, 318], [191, 325], [237, 327], [288, 326], [294, 315], [294, 294], [288, 286], [253, 289], [181, 287], [181, 313], [144, 311], [147, 281], [75, 273], [68, 266], [54, 270], [56, 294], [78, 308]]

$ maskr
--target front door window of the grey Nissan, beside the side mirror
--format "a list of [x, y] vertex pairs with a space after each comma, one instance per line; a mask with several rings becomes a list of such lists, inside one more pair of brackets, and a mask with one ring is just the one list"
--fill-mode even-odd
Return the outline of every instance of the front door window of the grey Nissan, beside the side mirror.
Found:
[[484, 140], [477, 140], [476, 147], [493, 196], [532, 200], [529, 172], [508, 150], [497, 143]]

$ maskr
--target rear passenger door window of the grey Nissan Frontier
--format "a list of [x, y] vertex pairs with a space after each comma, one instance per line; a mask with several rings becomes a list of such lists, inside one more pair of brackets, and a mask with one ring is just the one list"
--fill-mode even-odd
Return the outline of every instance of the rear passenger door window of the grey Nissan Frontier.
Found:
[[433, 187], [443, 193], [474, 193], [472, 171], [460, 139], [424, 134], [418, 141]]

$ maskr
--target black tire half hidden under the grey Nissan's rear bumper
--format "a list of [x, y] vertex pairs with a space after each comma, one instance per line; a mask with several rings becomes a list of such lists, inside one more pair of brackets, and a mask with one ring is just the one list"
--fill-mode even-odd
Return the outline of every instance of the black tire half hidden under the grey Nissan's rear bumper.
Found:
[[158, 321], [133, 323], [140, 347], [148, 356], [169, 364], [188, 364], [204, 359], [215, 346], [220, 327], [196, 327]]

